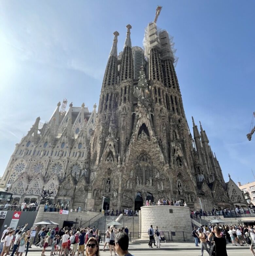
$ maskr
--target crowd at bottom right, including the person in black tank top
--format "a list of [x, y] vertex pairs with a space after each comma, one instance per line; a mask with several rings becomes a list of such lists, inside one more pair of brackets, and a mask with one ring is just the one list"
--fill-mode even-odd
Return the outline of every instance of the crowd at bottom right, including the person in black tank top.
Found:
[[[209, 253], [207, 246], [215, 246], [216, 255], [227, 256], [226, 244], [232, 243], [233, 246], [250, 247], [252, 255], [255, 256], [253, 245], [255, 245], [255, 226], [246, 225], [217, 225], [217, 226], [204, 226], [197, 228], [194, 227], [192, 236], [195, 239], [195, 246], [200, 242], [201, 255], [203, 256], [204, 250]], [[218, 254], [217, 254], [218, 252]]]

